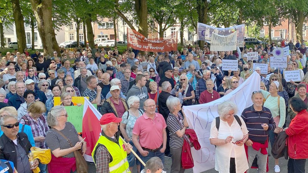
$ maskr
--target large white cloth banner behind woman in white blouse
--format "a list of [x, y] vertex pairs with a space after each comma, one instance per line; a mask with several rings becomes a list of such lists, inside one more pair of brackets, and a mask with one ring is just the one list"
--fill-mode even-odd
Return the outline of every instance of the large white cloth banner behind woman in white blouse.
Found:
[[206, 104], [183, 106], [189, 128], [196, 131], [201, 150], [191, 148], [194, 158], [194, 173], [203, 172], [215, 167], [215, 146], [210, 144], [211, 123], [218, 115], [217, 106], [224, 101], [230, 100], [238, 105], [237, 115], [241, 115], [243, 110], [253, 103], [251, 94], [253, 91], [260, 90], [260, 75], [254, 72], [243, 84], [231, 93], [220, 99]]

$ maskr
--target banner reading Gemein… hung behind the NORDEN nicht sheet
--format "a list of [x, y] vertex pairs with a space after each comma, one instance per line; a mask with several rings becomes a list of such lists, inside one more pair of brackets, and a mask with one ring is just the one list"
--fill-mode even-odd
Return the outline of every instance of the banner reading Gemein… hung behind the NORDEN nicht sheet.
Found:
[[245, 25], [236, 25], [229, 28], [216, 28], [203, 23], [197, 23], [198, 40], [211, 40], [212, 33], [218, 35], [230, 35], [237, 31], [238, 47], [244, 47]]

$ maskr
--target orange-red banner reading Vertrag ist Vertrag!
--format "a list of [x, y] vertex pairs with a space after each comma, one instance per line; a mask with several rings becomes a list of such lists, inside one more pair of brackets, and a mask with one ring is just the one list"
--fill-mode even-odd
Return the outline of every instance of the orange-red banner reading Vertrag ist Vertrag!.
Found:
[[[172, 37], [174, 36], [174, 37]], [[165, 52], [177, 50], [177, 32], [166, 38], [146, 38], [141, 33], [127, 28], [127, 46], [136, 50]]]

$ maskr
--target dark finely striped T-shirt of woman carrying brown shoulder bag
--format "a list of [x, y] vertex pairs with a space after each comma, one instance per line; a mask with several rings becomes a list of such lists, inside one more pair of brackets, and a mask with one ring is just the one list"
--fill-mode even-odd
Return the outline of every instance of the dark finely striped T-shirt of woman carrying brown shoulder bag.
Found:
[[[73, 146], [75, 146], [76, 143], [79, 142], [77, 131], [75, 127], [72, 125], [72, 123], [68, 121], [65, 122], [64, 129], [59, 130], [59, 131], [63, 133], [63, 135], [66, 136], [70, 140]], [[51, 151], [56, 150], [58, 148], [60, 148], [60, 150], [71, 148], [69, 142], [65, 140], [58, 132], [52, 129], [48, 130], [46, 138], [45, 138], [45, 142]], [[74, 152], [71, 152], [62, 157], [71, 158], [71, 157], [75, 157], [75, 155], [74, 155]]]

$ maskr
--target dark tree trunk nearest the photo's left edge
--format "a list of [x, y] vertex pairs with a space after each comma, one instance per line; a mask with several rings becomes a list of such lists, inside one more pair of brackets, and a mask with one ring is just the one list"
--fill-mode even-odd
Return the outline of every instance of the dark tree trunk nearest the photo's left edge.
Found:
[[21, 13], [19, 0], [11, 0], [11, 2], [13, 8], [14, 23], [16, 28], [18, 51], [23, 52], [24, 49], [27, 48], [23, 14]]

